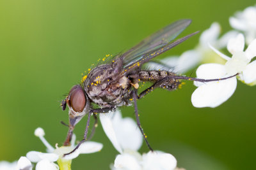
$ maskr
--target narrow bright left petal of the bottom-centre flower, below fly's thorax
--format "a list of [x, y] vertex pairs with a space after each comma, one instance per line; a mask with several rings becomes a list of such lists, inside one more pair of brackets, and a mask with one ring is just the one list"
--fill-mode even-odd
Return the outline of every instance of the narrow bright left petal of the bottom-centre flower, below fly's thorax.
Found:
[[102, 124], [102, 128], [104, 132], [108, 136], [113, 146], [116, 148], [116, 150], [119, 153], [122, 153], [122, 148], [120, 146], [120, 143], [118, 142], [118, 139], [116, 138], [116, 134], [115, 134], [115, 130], [114, 130], [111, 118], [108, 116], [100, 116], [100, 122]]

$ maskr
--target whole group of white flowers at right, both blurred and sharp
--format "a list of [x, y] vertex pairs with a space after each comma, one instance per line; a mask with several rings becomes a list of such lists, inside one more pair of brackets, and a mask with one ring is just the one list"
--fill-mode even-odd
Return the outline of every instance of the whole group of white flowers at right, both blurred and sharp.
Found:
[[[235, 29], [228, 31], [220, 37], [220, 24], [214, 22], [211, 27], [200, 36], [199, 44], [194, 50], [188, 50], [180, 57], [167, 57], [160, 63], [150, 63], [149, 67], [174, 67], [173, 71], [185, 73], [200, 63], [204, 63], [196, 70], [196, 77], [200, 79], [220, 79], [234, 76], [227, 80], [198, 82], [198, 87], [191, 96], [193, 106], [197, 108], [214, 108], [227, 101], [234, 94], [237, 79], [253, 86], [256, 84], [256, 6], [250, 6], [244, 11], [236, 13], [229, 19], [230, 25]], [[239, 33], [244, 32], [244, 35]], [[219, 38], [220, 37], [220, 38]], [[247, 44], [244, 50], [244, 44]], [[228, 57], [219, 50], [227, 46]], [[164, 63], [164, 64], [161, 64]]]

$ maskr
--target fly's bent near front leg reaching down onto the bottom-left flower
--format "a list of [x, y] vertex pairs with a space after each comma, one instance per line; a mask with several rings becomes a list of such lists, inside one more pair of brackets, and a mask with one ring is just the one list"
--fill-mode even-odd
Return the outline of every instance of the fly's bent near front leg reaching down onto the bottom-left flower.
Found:
[[[87, 123], [86, 123], [85, 131], [84, 131], [84, 138], [79, 142], [79, 144], [76, 146], [76, 148], [74, 148], [74, 150], [72, 150], [69, 153], [65, 153], [64, 157], [65, 157], [65, 155], [69, 155], [70, 153], [75, 152], [77, 150], [77, 148], [79, 148], [79, 146], [82, 143], [84, 143], [84, 141], [87, 140], [87, 135], [88, 135], [88, 129], [89, 129], [89, 125], [90, 125], [90, 117], [91, 117], [91, 115], [95, 115], [95, 113], [108, 113], [109, 111], [114, 111], [114, 110], [115, 110], [114, 107], [90, 110], [90, 112], [88, 114], [88, 120], [87, 120]], [[96, 120], [95, 120], [95, 122], [96, 122]]]

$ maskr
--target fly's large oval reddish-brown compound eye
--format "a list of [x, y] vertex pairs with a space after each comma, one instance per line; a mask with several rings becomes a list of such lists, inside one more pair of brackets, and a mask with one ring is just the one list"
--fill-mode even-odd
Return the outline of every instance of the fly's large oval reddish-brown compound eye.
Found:
[[76, 85], [72, 87], [69, 92], [70, 95], [70, 106], [76, 112], [82, 112], [86, 105], [86, 96], [81, 86]]

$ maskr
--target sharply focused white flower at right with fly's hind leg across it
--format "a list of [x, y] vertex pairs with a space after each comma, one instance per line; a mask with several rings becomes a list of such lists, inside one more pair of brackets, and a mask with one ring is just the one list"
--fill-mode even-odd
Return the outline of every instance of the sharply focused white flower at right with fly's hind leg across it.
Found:
[[[231, 38], [228, 41], [227, 49], [232, 53], [232, 57], [228, 57], [219, 52], [211, 46], [214, 52], [218, 53], [220, 57], [227, 60], [225, 65], [221, 64], [202, 64], [196, 70], [198, 78], [212, 79], [225, 78], [239, 73], [238, 78], [244, 83], [251, 84], [256, 80], [256, 60], [250, 62], [256, 56], [256, 39], [250, 43], [248, 48], [244, 50], [244, 36], [238, 34], [236, 38]], [[198, 87], [193, 92], [191, 101], [193, 106], [211, 107], [219, 106], [221, 103], [227, 101], [236, 90], [236, 77], [228, 80], [211, 81], [207, 83], [200, 83], [195, 81], [194, 84]]]

